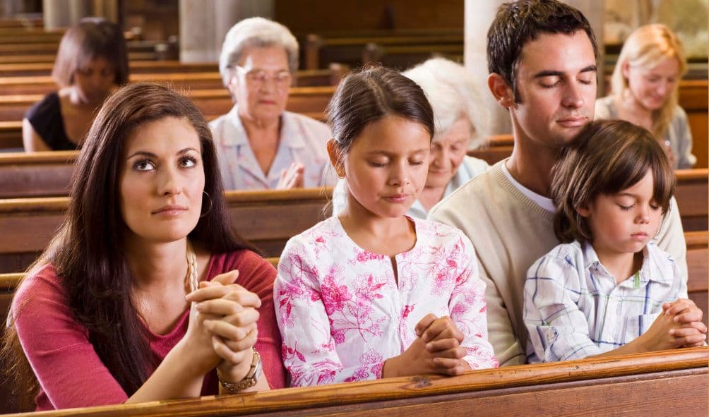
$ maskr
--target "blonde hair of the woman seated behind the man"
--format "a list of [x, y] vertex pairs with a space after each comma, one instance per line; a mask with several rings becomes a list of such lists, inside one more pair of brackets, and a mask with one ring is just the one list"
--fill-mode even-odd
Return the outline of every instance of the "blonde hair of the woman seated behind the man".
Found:
[[652, 112], [652, 134], [664, 137], [674, 116], [679, 101], [679, 79], [687, 70], [687, 60], [681, 41], [661, 23], [640, 26], [634, 30], [620, 50], [618, 62], [610, 77], [610, 91], [613, 96], [623, 97], [628, 88], [627, 78], [623, 75], [623, 66], [627, 62], [632, 67], [652, 69], [666, 58], [676, 58], [679, 63], [678, 82], [664, 105]]

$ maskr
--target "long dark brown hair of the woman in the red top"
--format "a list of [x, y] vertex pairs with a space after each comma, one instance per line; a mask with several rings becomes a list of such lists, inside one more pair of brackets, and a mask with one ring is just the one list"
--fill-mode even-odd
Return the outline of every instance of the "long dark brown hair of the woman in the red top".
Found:
[[[109, 97], [91, 125], [74, 168], [65, 222], [26, 275], [46, 263], [55, 266], [74, 319], [86, 327], [96, 354], [128, 396], [143, 385], [149, 365], [157, 363], [130, 295], [133, 278], [123, 256], [119, 159], [136, 127], [167, 117], [189, 122], [201, 144], [208, 194], [203, 195], [202, 207], [209, 208], [203, 208], [206, 213], [189, 238], [211, 253], [252, 249], [230, 227], [211, 131], [199, 109], [168, 88], [132, 84]], [[22, 314], [21, 306], [16, 306], [15, 314]], [[23, 354], [13, 317], [10, 323], [3, 341], [7, 371], [16, 380], [16, 394], [31, 400], [39, 385]]]

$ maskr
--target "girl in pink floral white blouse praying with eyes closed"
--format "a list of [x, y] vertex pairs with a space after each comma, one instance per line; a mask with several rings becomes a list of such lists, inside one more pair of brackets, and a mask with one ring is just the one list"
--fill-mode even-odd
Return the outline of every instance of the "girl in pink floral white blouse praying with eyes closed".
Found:
[[405, 215], [434, 132], [421, 88], [365, 69], [340, 82], [328, 118], [347, 205], [281, 254], [274, 303], [291, 385], [496, 367], [472, 244]]

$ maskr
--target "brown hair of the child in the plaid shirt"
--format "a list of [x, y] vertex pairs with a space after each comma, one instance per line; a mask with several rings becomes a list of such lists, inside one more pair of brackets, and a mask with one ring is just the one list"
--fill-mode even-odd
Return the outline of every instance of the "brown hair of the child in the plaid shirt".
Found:
[[648, 170], [654, 181], [652, 198], [666, 214], [674, 194], [674, 172], [652, 133], [623, 120], [588, 123], [552, 168], [554, 233], [559, 240], [593, 240], [576, 207], [588, 207], [598, 195], [632, 187]]

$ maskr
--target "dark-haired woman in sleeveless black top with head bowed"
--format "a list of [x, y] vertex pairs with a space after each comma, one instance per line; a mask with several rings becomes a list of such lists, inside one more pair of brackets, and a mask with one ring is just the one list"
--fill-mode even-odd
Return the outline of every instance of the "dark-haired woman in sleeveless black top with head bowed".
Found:
[[59, 91], [28, 110], [22, 121], [26, 152], [77, 149], [108, 94], [128, 82], [128, 54], [118, 25], [86, 18], [59, 44], [52, 78]]

